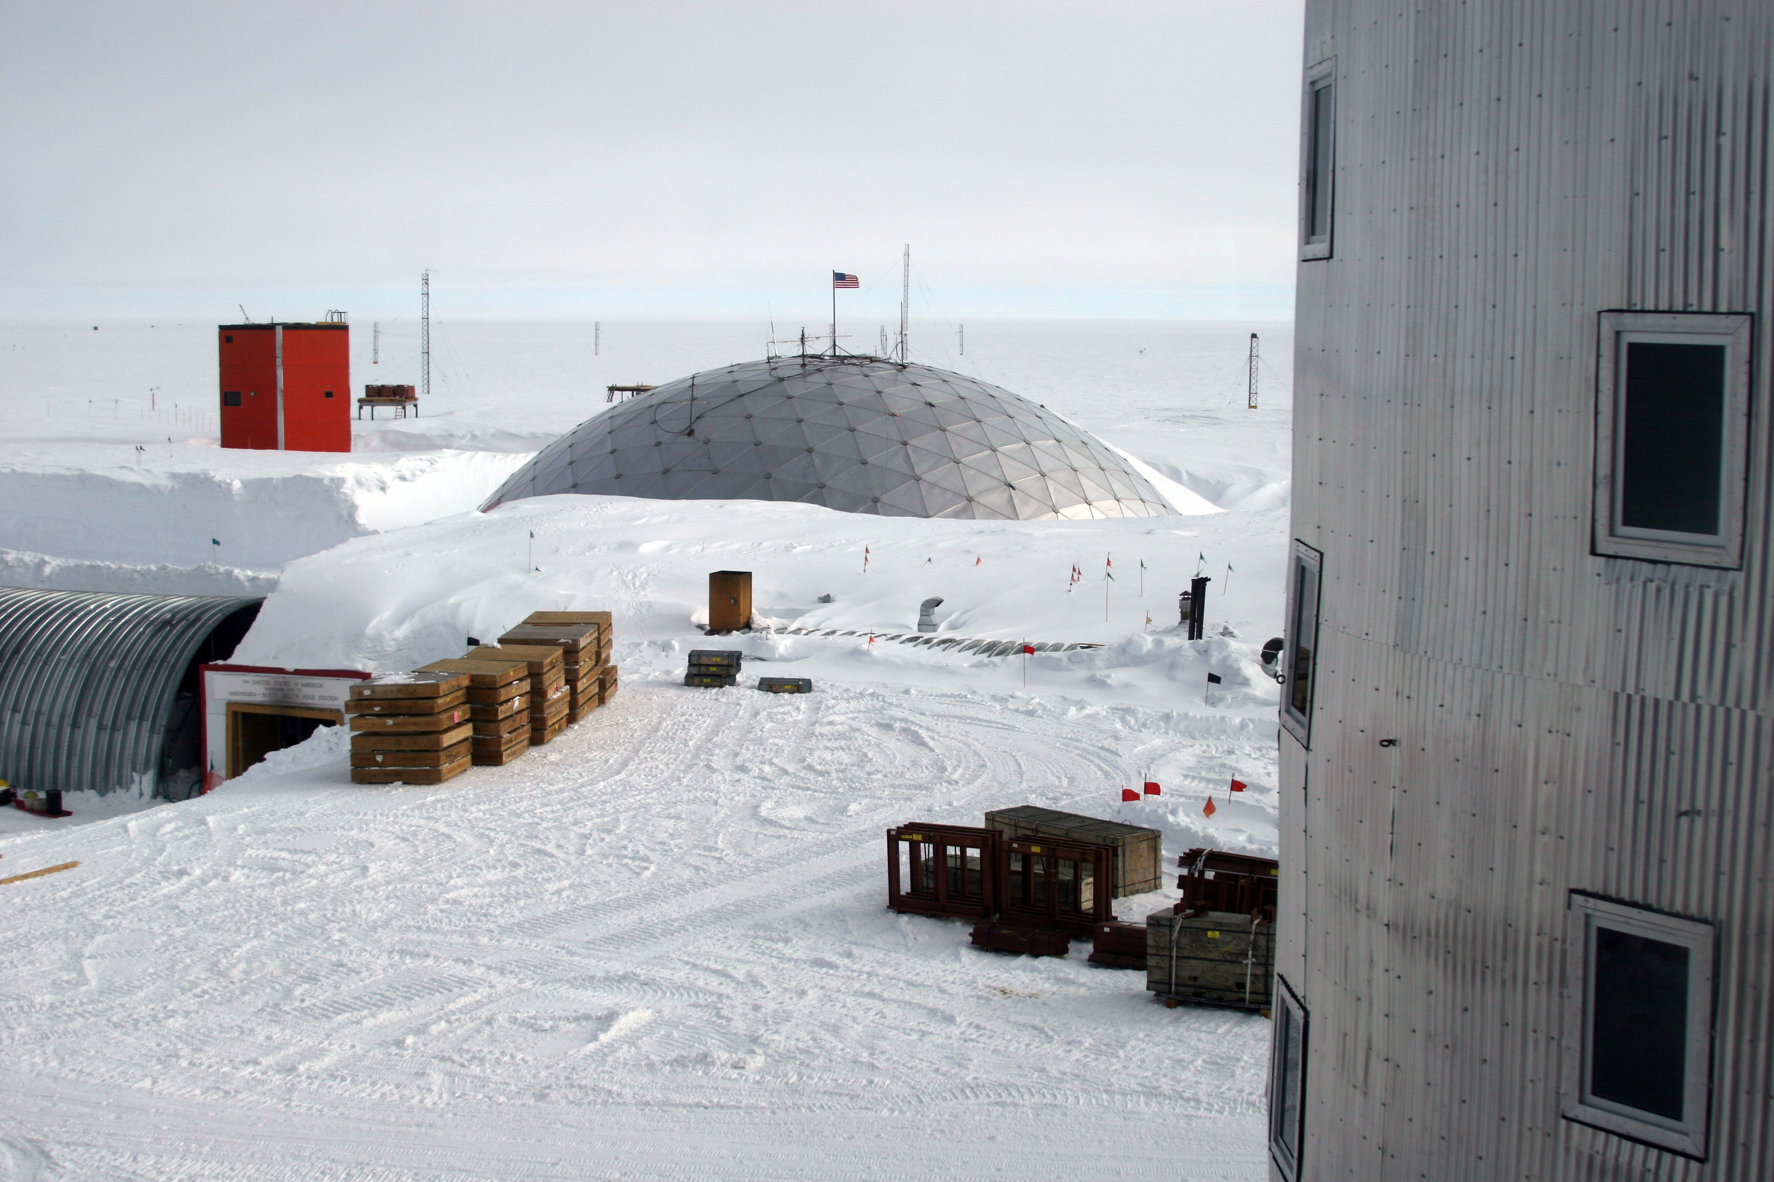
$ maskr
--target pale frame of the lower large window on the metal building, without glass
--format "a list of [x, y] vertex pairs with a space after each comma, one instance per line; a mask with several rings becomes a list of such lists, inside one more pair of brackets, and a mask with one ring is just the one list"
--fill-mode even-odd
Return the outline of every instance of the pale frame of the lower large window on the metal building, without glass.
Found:
[[[1566, 1120], [1614, 1132], [1630, 1141], [1707, 1157], [1712, 1100], [1714, 946], [1712, 923], [1634, 907], [1584, 891], [1570, 893], [1565, 937], [1565, 1054], [1561, 1104]], [[1669, 1120], [1590, 1093], [1591, 999], [1595, 996], [1595, 934], [1630, 932], [1682, 945], [1687, 959], [1687, 1056], [1682, 1120]]]

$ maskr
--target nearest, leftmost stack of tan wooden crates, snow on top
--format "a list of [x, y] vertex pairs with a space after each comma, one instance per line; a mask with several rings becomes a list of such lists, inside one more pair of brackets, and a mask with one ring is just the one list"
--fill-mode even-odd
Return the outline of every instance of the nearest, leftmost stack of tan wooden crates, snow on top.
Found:
[[351, 686], [351, 783], [444, 783], [468, 769], [468, 677], [381, 673]]

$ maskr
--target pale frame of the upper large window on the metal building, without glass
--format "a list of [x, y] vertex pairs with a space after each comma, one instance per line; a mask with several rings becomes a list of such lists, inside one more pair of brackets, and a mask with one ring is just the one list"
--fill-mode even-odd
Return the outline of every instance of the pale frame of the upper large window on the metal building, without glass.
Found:
[[[1744, 555], [1744, 482], [1749, 459], [1749, 353], [1753, 317], [1712, 312], [1602, 312], [1595, 399], [1595, 542], [1597, 555], [1733, 571]], [[1614, 473], [1625, 448], [1627, 346], [1724, 346], [1723, 454], [1719, 463], [1719, 533], [1678, 533], [1620, 523], [1625, 482]]]

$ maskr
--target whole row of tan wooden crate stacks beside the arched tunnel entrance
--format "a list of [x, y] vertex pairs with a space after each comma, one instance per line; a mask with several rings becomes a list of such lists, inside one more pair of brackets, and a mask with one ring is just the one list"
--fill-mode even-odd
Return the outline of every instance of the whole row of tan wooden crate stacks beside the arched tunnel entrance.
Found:
[[550, 743], [616, 696], [608, 611], [532, 611], [497, 645], [351, 689], [351, 782], [442, 783]]

